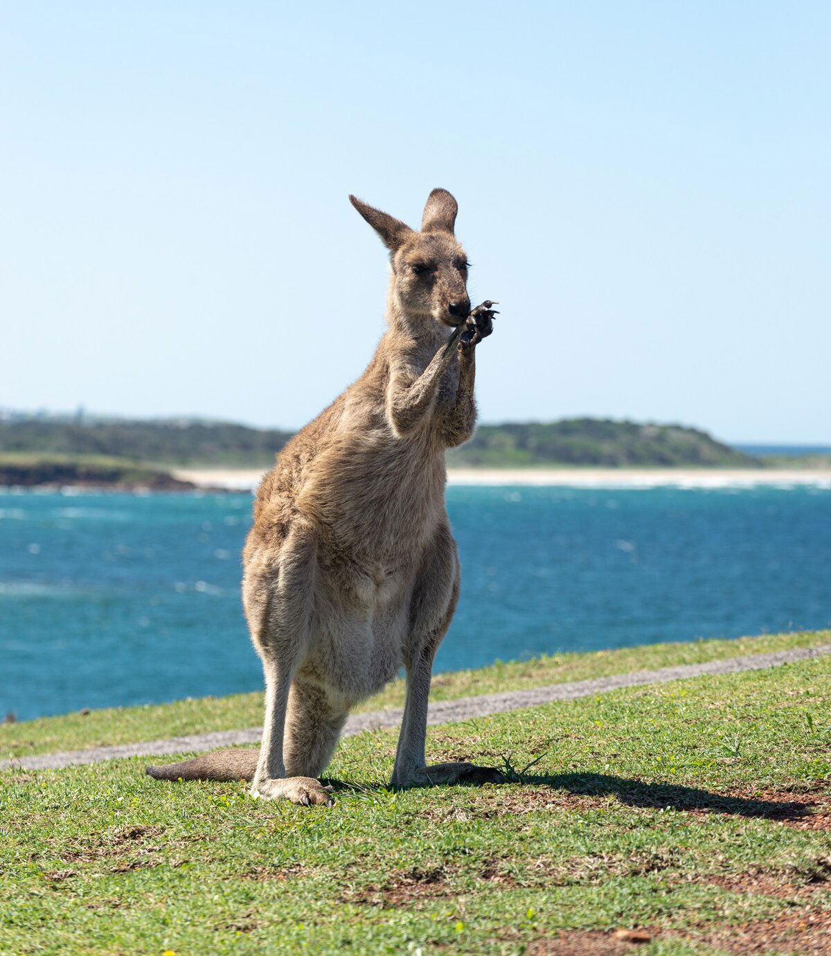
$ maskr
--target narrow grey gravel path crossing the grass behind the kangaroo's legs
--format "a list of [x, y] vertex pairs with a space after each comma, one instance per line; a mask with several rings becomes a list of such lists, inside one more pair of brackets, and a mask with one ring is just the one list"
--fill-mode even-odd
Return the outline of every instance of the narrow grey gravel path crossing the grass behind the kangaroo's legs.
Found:
[[[548, 687], [532, 687], [528, 690], [508, 690], [499, 694], [482, 694], [479, 697], [462, 697], [457, 701], [437, 701], [430, 705], [429, 724], [450, 724], [454, 721], [486, 717], [488, 714], [518, 710], [549, 704], [551, 701], [570, 701], [578, 697], [607, 693], [620, 687], [640, 684], [667, 684], [690, 677], [707, 674], [735, 674], [744, 670], [761, 670], [778, 667], [795, 661], [808, 661], [831, 654], [831, 644], [819, 647], [800, 647], [772, 654], [754, 654], [749, 657], [728, 658], [726, 661], [682, 664], [678, 667], [662, 667], [660, 670], [639, 670], [613, 677], [600, 677], [590, 681], [575, 681], [570, 684], [553, 684]], [[342, 736], [377, 728], [397, 727], [401, 723], [401, 708], [388, 707], [369, 713], [353, 714], [346, 723]], [[54, 770], [77, 764], [96, 764], [102, 760], [117, 760], [124, 757], [158, 757], [170, 754], [204, 752], [219, 747], [234, 747], [239, 744], [259, 744], [261, 728], [247, 730], [219, 730], [213, 733], [198, 733], [188, 737], [171, 737], [169, 740], [151, 740], [143, 744], [119, 744], [116, 747], [96, 747], [91, 750], [63, 750], [59, 753], [44, 753], [34, 757], [0, 761], [0, 770], [19, 768], [24, 770]]]

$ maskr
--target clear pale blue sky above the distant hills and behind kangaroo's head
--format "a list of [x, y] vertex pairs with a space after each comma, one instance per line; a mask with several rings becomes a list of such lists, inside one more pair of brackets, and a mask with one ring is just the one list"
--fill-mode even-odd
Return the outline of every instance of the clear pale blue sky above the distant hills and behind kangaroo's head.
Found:
[[[352, 7], [355, 10], [352, 10]], [[7, 4], [0, 405], [303, 424], [458, 198], [485, 421], [831, 444], [831, 5]]]

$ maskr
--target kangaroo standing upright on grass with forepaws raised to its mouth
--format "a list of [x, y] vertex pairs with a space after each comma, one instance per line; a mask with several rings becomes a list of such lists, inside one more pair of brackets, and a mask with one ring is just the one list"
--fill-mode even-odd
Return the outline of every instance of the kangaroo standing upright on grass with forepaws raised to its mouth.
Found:
[[257, 750], [218, 750], [151, 776], [251, 781], [251, 793], [332, 805], [321, 784], [350, 709], [406, 668], [391, 786], [501, 783], [469, 763], [428, 767], [427, 698], [458, 601], [444, 502], [446, 448], [476, 424], [476, 346], [458, 205], [434, 189], [420, 231], [350, 196], [390, 250], [388, 329], [355, 381], [277, 456], [254, 503], [245, 619], [266, 679]]

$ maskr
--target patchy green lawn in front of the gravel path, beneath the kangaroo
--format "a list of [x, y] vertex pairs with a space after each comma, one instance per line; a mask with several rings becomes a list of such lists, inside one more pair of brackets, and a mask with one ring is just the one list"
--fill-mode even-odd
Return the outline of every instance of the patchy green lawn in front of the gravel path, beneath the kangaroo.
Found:
[[[394, 745], [339, 747], [331, 810], [139, 760], [6, 772], [0, 952], [829, 951], [828, 658], [431, 729], [431, 759], [510, 766], [503, 786], [389, 792]], [[611, 935], [632, 927], [650, 942]]]

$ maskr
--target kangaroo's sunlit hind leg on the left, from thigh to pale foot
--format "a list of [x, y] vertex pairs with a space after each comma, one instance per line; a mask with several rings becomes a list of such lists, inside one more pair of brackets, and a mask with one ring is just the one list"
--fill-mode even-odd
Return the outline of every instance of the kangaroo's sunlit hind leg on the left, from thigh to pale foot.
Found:
[[247, 555], [245, 617], [266, 678], [263, 743], [251, 793], [269, 800], [285, 797], [293, 803], [330, 806], [330, 793], [319, 780], [287, 775], [284, 752], [291, 684], [309, 653], [316, 575], [316, 535], [301, 520], [293, 522], [279, 551], [254, 546]]

